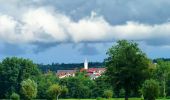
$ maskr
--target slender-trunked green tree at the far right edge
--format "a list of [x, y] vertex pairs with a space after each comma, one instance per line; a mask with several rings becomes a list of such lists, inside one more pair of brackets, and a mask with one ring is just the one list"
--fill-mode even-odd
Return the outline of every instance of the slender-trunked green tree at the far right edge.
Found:
[[161, 92], [163, 93], [163, 97], [166, 98], [167, 81], [170, 75], [170, 62], [158, 60], [156, 65], [155, 79], [160, 82], [162, 88]]

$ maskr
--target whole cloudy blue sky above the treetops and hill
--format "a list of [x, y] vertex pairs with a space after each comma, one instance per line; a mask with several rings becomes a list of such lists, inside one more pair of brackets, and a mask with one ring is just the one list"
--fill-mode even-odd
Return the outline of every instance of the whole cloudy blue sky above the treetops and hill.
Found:
[[117, 40], [170, 58], [170, 0], [0, 0], [0, 60], [102, 62]]

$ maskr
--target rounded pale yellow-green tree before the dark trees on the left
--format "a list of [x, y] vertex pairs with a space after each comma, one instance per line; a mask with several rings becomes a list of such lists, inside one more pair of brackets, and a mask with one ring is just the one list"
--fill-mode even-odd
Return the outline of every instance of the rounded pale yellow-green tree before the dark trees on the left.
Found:
[[37, 96], [37, 84], [31, 80], [27, 79], [21, 82], [21, 94], [27, 100], [31, 100]]

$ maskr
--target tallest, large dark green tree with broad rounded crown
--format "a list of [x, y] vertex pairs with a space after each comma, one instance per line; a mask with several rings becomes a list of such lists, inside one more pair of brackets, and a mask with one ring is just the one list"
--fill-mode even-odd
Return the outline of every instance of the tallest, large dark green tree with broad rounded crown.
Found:
[[148, 76], [150, 60], [133, 41], [120, 40], [107, 52], [106, 75], [115, 89], [125, 90], [125, 100], [131, 91], [138, 91]]

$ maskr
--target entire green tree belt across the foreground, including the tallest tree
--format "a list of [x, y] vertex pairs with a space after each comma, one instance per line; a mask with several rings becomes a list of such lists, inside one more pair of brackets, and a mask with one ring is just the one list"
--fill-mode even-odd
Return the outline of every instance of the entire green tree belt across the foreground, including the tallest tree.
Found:
[[[55, 72], [42, 73], [31, 60], [5, 58], [0, 63], [0, 98], [57, 99], [143, 97], [155, 100], [170, 95], [170, 62], [153, 63], [133, 41], [121, 40], [105, 59], [106, 73], [91, 80], [86, 72], [59, 79]], [[152, 92], [152, 93], [151, 93]]]

